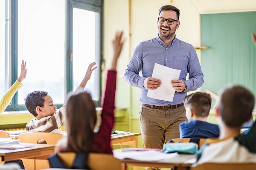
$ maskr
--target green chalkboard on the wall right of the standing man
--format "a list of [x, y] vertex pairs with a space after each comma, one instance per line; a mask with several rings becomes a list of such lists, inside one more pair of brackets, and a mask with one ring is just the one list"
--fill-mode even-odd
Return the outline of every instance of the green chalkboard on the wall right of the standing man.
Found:
[[242, 85], [256, 96], [256, 11], [201, 14], [202, 91], [218, 94], [225, 85]]

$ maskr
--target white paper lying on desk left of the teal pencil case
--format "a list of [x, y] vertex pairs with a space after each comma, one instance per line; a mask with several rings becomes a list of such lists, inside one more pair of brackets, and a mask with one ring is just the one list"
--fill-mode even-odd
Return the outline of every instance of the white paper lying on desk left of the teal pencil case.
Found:
[[138, 161], [160, 161], [164, 159], [172, 159], [177, 156], [178, 153], [163, 153], [155, 150], [148, 151], [131, 151], [120, 152], [113, 150], [113, 156], [117, 159], [134, 159]]

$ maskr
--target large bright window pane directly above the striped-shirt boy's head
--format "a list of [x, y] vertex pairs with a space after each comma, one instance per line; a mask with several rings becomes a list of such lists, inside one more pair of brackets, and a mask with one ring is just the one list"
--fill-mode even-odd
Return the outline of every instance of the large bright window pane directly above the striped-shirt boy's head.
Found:
[[18, 3], [18, 76], [22, 59], [27, 77], [18, 104], [32, 91], [47, 91], [54, 104], [64, 103], [64, 0]]

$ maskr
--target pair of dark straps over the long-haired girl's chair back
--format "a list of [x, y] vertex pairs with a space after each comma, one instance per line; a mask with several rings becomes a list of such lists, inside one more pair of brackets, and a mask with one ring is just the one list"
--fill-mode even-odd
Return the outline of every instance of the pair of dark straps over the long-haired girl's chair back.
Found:
[[63, 162], [61, 161], [60, 157], [57, 153], [53, 154], [48, 158], [49, 164], [52, 168], [68, 168], [68, 169], [87, 169], [90, 168], [87, 165], [88, 153], [76, 153], [76, 158], [73, 162], [71, 167], [64, 166]]

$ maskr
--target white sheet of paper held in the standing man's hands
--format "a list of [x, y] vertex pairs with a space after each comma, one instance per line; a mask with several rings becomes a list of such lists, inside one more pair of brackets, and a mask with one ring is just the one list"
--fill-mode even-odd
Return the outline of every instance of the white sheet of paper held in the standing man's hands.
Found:
[[162, 84], [159, 88], [155, 90], [148, 90], [148, 97], [153, 99], [165, 100], [172, 102], [175, 89], [172, 88], [171, 80], [179, 79], [180, 71], [173, 68], [166, 67], [155, 63], [152, 77], [160, 79]]

